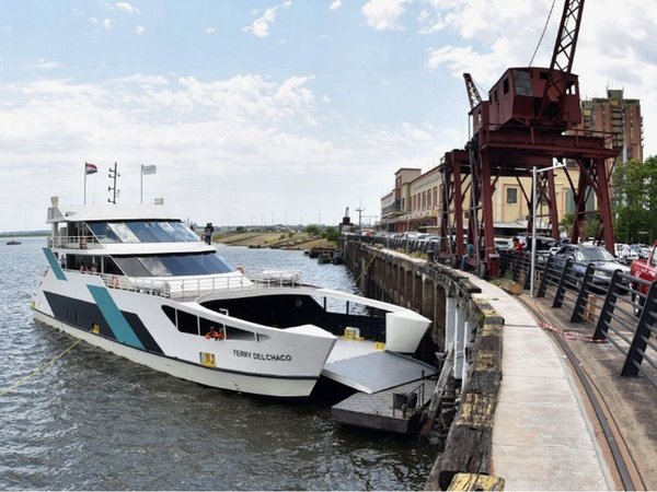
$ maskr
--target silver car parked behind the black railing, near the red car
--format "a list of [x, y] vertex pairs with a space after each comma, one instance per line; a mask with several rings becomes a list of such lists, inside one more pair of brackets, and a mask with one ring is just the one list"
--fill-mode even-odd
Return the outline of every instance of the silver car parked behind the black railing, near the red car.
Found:
[[[577, 288], [581, 284], [581, 279], [589, 263], [593, 263], [596, 270], [591, 280], [591, 290], [597, 293], [606, 293], [611, 286], [611, 277], [616, 270], [623, 273], [630, 273], [630, 267], [621, 263], [615, 257], [602, 246], [589, 246], [578, 244], [567, 244], [562, 246], [554, 254], [555, 268], [564, 268], [566, 260], [572, 259], [573, 274]], [[624, 280], [625, 292], [630, 291], [630, 282]]]

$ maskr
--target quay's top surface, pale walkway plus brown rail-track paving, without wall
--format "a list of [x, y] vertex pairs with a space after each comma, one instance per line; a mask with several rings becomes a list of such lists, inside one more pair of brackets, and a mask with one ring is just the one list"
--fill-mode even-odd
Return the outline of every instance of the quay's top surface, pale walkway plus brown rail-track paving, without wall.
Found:
[[[551, 307], [552, 300], [516, 296], [466, 276], [482, 290], [473, 297], [485, 298], [505, 319], [492, 475], [504, 478], [507, 490], [626, 490], [627, 483], [657, 490], [657, 389], [645, 378], [621, 377], [618, 349], [586, 341], [591, 326], [569, 323], [569, 313]], [[558, 340], [563, 332], [579, 337]], [[564, 350], [578, 361], [602, 418]], [[612, 427], [624, 470], [601, 419]]]

